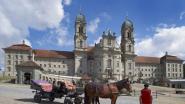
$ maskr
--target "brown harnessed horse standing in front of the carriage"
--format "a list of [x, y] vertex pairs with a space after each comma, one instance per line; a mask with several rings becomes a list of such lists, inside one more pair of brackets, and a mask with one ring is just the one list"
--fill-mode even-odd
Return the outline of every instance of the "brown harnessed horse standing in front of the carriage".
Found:
[[115, 104], [120, 90], [123, 88], [131, 92], [132, 88], [128, 79], [123, 79], [115, 83], [109, 84], [98, 84], [98, 83], [88, 83], [85, 85], [85, 104], [94, 103], [94, 99], [98, 98], [110, 98], [111, 104]]

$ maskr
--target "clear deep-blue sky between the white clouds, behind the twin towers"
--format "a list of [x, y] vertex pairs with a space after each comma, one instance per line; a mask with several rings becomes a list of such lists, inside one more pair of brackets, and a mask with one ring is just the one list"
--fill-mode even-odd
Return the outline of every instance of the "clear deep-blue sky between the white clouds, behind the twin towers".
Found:
[[[111, 29], [120, 35], [120, 28], [125, 20], [126, 15], [134, 23], [135, 37], [143, 38], [153, 35], [152, 27], [159, 24], [175, 24], [183, 25], [184, 20], [180, 20], [179, 16], [185, 10], [185, 2], [183, 0], [73, 0], [68, 6], [64, 6], [68, 22], [63, 19], [61, 24], [68, 26], [68, 38], [73, 39], [74, 21], [80, 8], [86, 16], [87, 25], [96, 18], [100, 19], [96, 31], [88, 34], [88, 43], [92, 44], [103, 31]], [[57, 50], [73, 50], [73, 47], [60, 46], [54, 43], [38, 45], [35, 40], [45, 38], [48, 29], [37, 31], [30, 29], [29, 40], [34, 48], [57, 49]]]

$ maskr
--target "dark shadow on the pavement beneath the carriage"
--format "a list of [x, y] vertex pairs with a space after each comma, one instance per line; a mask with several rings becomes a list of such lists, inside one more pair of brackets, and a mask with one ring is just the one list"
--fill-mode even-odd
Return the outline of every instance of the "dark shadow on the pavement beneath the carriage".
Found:
[[[31, 102], [31, 103], [35, 103], [33, 98], [23, 98], [23, 99], [15, 99], [17, 101], [21, 101], [21, 102]], [[41, 103], [39, 104], [63, 104], [61, 102], [50, 102], [48, 100], [42, 100]]]

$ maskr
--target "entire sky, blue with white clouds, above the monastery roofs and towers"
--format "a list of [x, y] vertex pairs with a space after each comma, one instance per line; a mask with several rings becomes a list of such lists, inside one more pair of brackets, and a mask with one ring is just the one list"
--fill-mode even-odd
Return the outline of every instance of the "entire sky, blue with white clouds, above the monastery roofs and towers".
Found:
[[185, 44], [184, 0], [1, 0], [0, 48], [24, 39], [34, 49], [71, 51], [80, 8], [86, 16], [89, 45], [107, 29], [116, 33], [119, 43], [128, 15], [138, 55], [160, 57], [168, 51], [185, 58], [185, 49], [180, 48]]

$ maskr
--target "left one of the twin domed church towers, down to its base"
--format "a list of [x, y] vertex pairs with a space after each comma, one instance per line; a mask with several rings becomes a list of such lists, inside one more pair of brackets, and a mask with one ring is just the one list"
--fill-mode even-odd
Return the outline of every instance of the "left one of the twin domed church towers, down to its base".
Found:
[[74, 35], [75, 73], [80, 76], [87, 73], [87, 35], [86, 20], [82, 13], [76, 16]]

